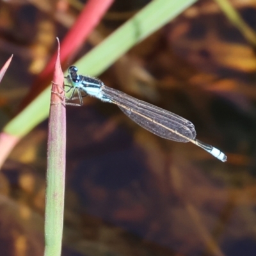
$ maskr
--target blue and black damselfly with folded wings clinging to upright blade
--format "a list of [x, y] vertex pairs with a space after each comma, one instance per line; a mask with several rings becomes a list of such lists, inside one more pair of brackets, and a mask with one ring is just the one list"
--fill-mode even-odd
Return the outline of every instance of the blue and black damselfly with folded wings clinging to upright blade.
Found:
[[190, 141], [220, 161], [227, 161], [227, 156], [218, 148], [196, 139], [195, 126], [189, 120], [131, 97], [124, 92], [109, 88], [99, 79], [77, 75], [77, 71], [75, 66], [68, 68], [67, 81], [70, 87], [68, 91], [71, 90], [70, 99], [74, 99], [74, 94], [77, 92], [80, 104], [83, 104], [81, 95], [83, 92], [104, 102], [116, 104], [125, 115], [148, 131], [168, 140]]

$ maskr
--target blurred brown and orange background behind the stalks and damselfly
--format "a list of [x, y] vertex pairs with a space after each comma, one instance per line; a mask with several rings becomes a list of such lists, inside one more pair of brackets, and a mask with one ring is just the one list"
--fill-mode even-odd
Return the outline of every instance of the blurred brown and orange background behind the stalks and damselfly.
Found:
[[[1, 127], [19, 113], [56, 36], [65, 37], [85, 2], [0, 1], [0, 66], [14, 54], [0, 86]], [[149, 2], [115, 0], [65, 65]], [[255, 1], [229, 3], [256, 28]], [[226, 163], [159, 138], [100, 100], [67, 106], [62, 255], [255, 255], [255, 45], [216, 1], [200, 0], [99, 76], [193, 122], [196, 138], [225, 152]], [[46, 150], [47, 120], [3, 165], [1, 255], [43, 255]]]

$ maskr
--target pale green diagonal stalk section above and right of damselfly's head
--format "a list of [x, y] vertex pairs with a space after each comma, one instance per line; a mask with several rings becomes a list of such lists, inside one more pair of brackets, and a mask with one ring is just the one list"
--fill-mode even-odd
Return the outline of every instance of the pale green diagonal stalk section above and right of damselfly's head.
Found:
[[196, 0], [152, 1], [75, 65], [83, 74], [99, 76], [132, 46], [157, 31], [195, 2]]

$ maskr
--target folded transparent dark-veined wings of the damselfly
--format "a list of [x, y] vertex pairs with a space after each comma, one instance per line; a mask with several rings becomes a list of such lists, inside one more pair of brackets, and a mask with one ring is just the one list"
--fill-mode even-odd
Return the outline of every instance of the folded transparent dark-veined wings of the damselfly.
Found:
[[185, 118], [152, 104], [138, 100], [108, 86], [102, 86], [102, 95], [111, 99], [136, 124], [162, 138], [188, 142], [196, 137], [195, 126]]

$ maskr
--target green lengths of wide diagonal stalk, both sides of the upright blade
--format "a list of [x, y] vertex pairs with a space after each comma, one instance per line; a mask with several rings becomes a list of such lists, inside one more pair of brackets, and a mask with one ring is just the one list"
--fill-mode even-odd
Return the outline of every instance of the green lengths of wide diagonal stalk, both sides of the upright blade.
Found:
[[[77, 61], [75, 65], [83, 74], [99, 76], [132, 46], [177, 17], [195, 2], [196, 0], [155, 0], [150, 2], [100, 45]], [[49, 93], [49, 88], [40, 93], [27, 108], [4, 127], [4, 132], [22, 137], [47, 118]]]

